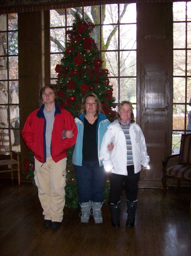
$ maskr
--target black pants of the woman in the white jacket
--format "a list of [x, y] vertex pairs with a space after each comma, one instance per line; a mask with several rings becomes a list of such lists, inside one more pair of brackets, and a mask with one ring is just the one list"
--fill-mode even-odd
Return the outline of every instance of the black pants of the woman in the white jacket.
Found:
[[120, 201], [122, 189], [125, 185], [127, 200], [136, 201], [140, 172], [134, 173], [134, 165], [127, 166], [128, 175], [109, 173], [110, 203], [115, 205]]

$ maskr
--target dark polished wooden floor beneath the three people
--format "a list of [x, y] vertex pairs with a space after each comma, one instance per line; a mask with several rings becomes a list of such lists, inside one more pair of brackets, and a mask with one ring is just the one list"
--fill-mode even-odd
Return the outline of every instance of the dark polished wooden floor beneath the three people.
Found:
[[190, 188], [139, 189], [136, 222], [125, 228], [126, 201], [121, 197], [121, 227], [112, 228], [108, 205], [104, 223], [80, 223], [78, 209], [64, 208], [59, 229], [44, 228], [37, 188], [0, 179], [1, 256], [190, 256]]

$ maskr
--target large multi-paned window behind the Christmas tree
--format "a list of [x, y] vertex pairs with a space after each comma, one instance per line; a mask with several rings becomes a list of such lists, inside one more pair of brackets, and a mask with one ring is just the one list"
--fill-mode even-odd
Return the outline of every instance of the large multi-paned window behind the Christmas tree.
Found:
[[55, 66], [60, 64], [72, 29], [74, 13], [88, 18], [95, 28], [92, 38], [97, 43], [103, 68], [110, 72], [116, 103], [129, 100], [136, 116], [136, 4], [111, 4], [50, 11], [51, 82], [55, 83]]

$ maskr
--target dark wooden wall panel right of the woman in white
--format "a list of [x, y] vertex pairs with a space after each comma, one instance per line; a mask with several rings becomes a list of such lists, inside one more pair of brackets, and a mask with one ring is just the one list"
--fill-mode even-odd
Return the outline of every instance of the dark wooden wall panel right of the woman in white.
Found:
[[137, 4], [137, 15], [137, 120], [151, 159], [139, 186], [162, 187], [162, 160], [172, 148], [172, 3]]

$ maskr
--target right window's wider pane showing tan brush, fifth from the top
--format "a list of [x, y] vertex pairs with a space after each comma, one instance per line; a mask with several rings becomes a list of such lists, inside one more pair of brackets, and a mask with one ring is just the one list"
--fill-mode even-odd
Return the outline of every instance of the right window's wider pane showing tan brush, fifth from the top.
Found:
[[185, 105], [173, 105], [173, 130], [185, 129]]

